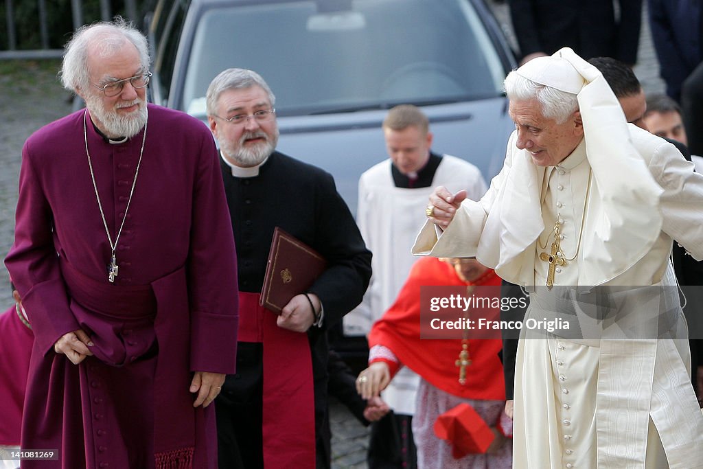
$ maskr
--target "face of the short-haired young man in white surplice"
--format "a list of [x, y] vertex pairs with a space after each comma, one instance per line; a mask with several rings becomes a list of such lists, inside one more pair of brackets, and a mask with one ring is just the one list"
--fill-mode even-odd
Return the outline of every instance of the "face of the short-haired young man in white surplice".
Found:
[[418, 172], [430, 159], [432, 134], [423, 133], [411, 125], [402, 130], [383, 129], [386, 150], [398, 170], [403, 174]]

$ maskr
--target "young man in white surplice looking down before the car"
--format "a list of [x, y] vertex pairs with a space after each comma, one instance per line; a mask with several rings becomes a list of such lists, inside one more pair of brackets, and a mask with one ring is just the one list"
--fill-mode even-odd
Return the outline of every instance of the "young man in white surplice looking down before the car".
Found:
[[[395, 301], [416, 260], [411, 254], [413, 238], [425, 221], [423, 207], [432, 188], [442, 185], [452, 191], [463, 189], [473, 200], [486, 192], [486, 182], [477, 167], [430, 150], [432, 132], [420, 108], [392, 108], [382, 129], [390, 158], [370, 167], [359, 179], [356, 222], [373, 252], [373, 275], [359, 307], [344, 316], [344, 332], [349, 335], [366, 335]], [[384, 391], [383, 399], [396, 415], [412, 416], [418, 384], [418, 375], [402, 368]], [[374, 425], [384, 428], [383, 424]], [[409, 422], [406, 427], [411, 438]], [[375, 438], [375, 432], [372, 435]]]

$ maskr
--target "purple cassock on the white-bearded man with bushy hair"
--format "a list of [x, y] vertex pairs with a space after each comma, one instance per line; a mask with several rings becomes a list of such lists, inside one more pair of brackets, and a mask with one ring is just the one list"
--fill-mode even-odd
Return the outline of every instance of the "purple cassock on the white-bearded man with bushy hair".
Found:
[[[217, 150], [202, 122], [148, 105], [129, 202], [143, 132], [110, 143], [80, 110], [22, 150], [5, 261], [35, 335], [22, 448], [59, 454], [23, 468], [217, 465], [214, 406], [193, 408], [188, 389], [194, 371], [236, 365], [236, 252]], [[114, 283], [86, 143], [113, 242], [127, 211]], [[79, 328], [94, 356], [76, 366], [53, 344]]]

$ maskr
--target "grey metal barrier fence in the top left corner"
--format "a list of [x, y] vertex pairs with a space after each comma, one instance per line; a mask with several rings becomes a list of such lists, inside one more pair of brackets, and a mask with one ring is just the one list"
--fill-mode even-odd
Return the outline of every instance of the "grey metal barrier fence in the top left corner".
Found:
[[[110, 0], [100, 1], [101, 20], [108, 21], [112, 19], [112, 5]], [[136, 0], [124, 0], [125, 19], [137, 21]], [[42, 59], [42, 58], [60, 58], [63, 54], [63, 49], [50, 49], [49, 47], [49, 28], [46, 17], [46, 0], [37, 0], [37, 18], [39, 37], [41, 40], [41, 48], [34, 50], [18, 50], [18, 37], [15, 28], [15, 11], [13, 8], [13, 0], [5, 0], [6, 13], [6, 28], [8, 36], [8, 50], [0, 51], [0, 60], [7, 59]], [[73, 29], [77, 30], [84, 25], [83, 18], [83, 1], [71, 0], [71, 16]]]

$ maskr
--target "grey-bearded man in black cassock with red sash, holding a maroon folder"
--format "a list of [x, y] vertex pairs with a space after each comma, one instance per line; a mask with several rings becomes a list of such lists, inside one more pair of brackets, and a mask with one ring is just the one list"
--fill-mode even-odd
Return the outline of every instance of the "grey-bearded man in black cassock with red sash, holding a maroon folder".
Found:
[[[328, 468], [326, 330], [361, 302], [371, 253], [330, 174], [275, 150], [275, 97], [256, 72], [231, 68], [207, 89], [238, 243], [236, 375], [217, 400], [220, 468]], [[327, 259], [280, 315], [259, 307], [273, 229]], [[233, 347], [234, 349], [234, 347]]]

